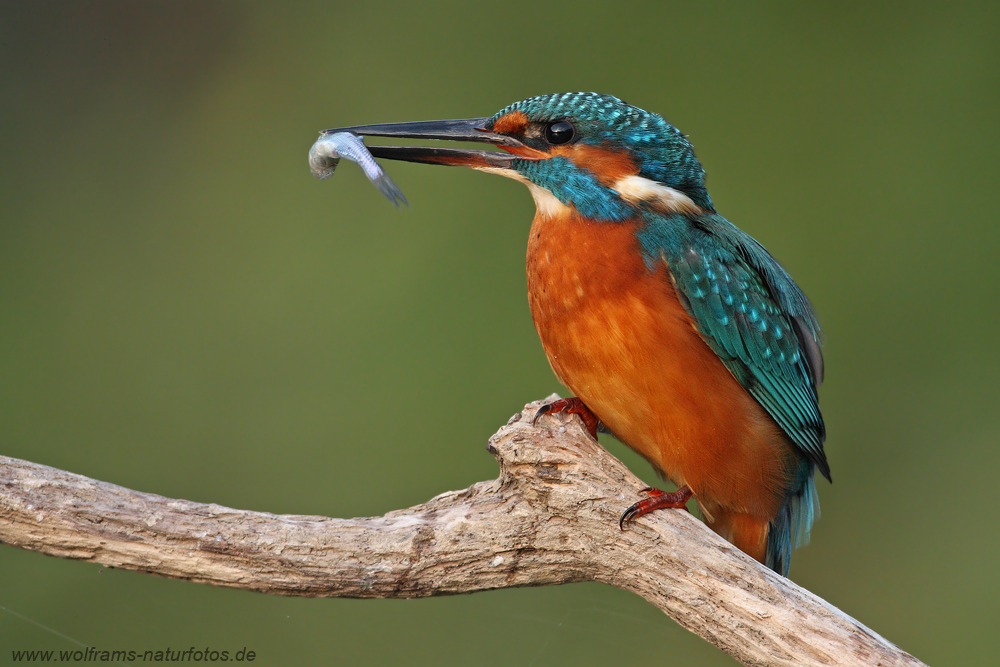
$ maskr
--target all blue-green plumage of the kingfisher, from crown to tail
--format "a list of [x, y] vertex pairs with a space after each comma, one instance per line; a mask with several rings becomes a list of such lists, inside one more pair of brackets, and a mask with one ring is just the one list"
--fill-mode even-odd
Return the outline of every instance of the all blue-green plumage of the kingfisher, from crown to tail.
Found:
[[816, 393], [823, 377], [820, 330], [808, 299], [763, 246], [715, 212], [693, 147], [662, 117], [610, 95], [566, 93], [512, 104], [487, 127], [513, 111], [530, 122], [569, 120], [577, 141], [627, 150], [639, 176], [687, 195], [701, 209], [669, 214], [626, 201], [563, 158], [512, 165], [589, 219], [639, 220], [647, 266], [666, 264], [705, 342], [796, 445], [798, 468], [771, 521], [766, 556], [769, 567], [787, 574], [793, 544], [808, 541], [819, 513], [815, 470], [830, 478]]

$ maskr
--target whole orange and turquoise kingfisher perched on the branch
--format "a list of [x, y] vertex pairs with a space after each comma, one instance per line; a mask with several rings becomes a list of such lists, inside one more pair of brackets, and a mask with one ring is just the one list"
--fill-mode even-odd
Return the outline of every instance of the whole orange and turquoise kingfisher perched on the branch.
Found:
[[369, 147], [528, 187], [528, 301], [552, 370], [574, 394], [536, 421], [576, 413], [593, 437], [610, 432], [677, 486], [645, 489], [623, 529], [693, 497], [716, 533], [787, 576], [819, 512], [816, 470], [831, 480], [820, 328], [781, 265], [716, 212], [684, 134], [597, 93], [531, 97], [487, 118], [325, 132], [503, 149]]

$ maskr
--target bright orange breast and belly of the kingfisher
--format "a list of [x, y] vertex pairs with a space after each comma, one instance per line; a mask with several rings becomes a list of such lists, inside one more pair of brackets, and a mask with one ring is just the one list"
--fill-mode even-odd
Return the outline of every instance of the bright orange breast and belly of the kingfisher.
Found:
[[535, 217], [528, 299], [549, 362], [618, 438], [690, 486], [710, 523], [769, 520], [791, 444], [695, 330], [666, 265], [646, 267], [635, 230]]

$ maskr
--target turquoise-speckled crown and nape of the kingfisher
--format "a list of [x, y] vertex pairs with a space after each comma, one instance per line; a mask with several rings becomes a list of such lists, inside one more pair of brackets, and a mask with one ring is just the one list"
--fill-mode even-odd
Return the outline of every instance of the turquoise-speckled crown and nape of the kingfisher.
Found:
[[[515, 111], [520, 111], [533, 123], [568, 120], [576, 129], [577, 142], [625, 149], [639, 166], [640, 176], [683, 192], [706, 211], [714, 210], [705, 189], [705, 170], [695, 157], [694, 147], [662, 116], [613, 95], [562, 93], [529, 97], [504, 107], [487, 121], [487, 129], [492, 129], [502, 116]], [[538, 148], [545, 150], [546, 147]], [[564, 169], [566, 165], [559, 166]], [[537, 173], [540, 170], [548, 171], [534, 169], [536, 178], [542, 176]], [[532, 175], [525, 176], [536, 180]], [[538, 184], [547, 187], [541, 182]]]

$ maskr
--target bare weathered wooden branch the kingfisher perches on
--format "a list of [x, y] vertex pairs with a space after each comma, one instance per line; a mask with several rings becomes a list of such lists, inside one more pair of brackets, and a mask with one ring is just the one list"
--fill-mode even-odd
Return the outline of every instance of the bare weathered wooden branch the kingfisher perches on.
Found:
[[498, 479], [367, 519], [172, 500], [0, 457], [0, 541], [278, 595], [412, 598], [602, 581], [747, 665], [923, 664], [687, 512], [619, 530], [645, 485], [579, 419], [532, 426], [538, 405], [490, 438]]

